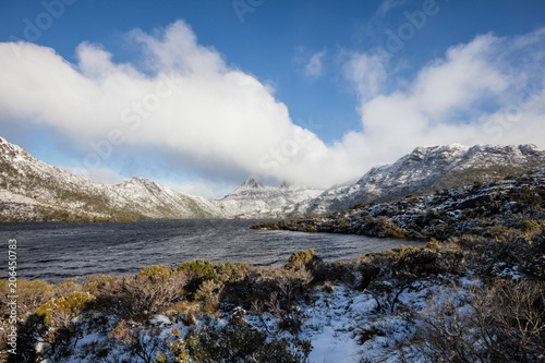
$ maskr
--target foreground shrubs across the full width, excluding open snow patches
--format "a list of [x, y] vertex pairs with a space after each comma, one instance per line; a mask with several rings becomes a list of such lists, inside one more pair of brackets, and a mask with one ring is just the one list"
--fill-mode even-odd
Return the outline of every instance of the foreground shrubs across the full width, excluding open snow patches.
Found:
[[[310, 304], [316, 292], [344, 285], [373, 297], [373, 316], [419, 322], [410, 341], [398, 347], [404, 354], [419, 350], [429, 362], [447, 358], [540, 362], [545, 358], [544, 256], [542, 226], [532, 233], [432, 241], [425, 247], [400, 247], [332, 264], [310, 250], [268, 269], [195, 261], [175, 270], [156, 265], [136, 276], [94, 275], [82, 282], [20, 281], [17, 355], [10, 355], [10, 361], [93, 356], [90, 361], [109, 362], [109, 353], [118, 351], [119, 362], [136, 358], [143, 362], [305, 362], [312, 347], [299, 336], [304, 320], [299, 306]], [[469, 289], [451, 285], [462, 277], [474, 279]], [[422, 289], [422, 283], [446, 289], [426, 297], [420, 308], [407, 304], [403, 293]], [[2, 281], [7, 313], [5, 285]], [[246, 312], [256, 317], [256, 324], [249, 324]], [[153, 323], [157, 314], [185, 327], [183, 335], [177, 327], [165, 335]], [[269, 317], [276, 327], [259, 323]], [[7, 318], [1, 320], [4, 331]], [[227, 324], [221, 325], [221, 319]], [[364, 326], [353, 332], [361, 343], [384, 334], [377, 326]], [[108, 337], [106, 343], [80, 344], [81, 355], [72, 355], [78, 339], [89, 331]], [[3, 335], [4, 359], [7, 342]]]

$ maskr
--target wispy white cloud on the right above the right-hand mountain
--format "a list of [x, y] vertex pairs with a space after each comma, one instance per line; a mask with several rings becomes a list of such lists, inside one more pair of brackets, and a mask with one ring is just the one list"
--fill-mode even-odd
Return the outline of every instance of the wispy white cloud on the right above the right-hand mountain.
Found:
[[364, 162], [390, 161], [425, 144], [544, 147], [544, 29], [519, 37], [477, 36], [390, 92], [372, 55], [352, 56], [346, 75], [360, 95], [361, 142], [373, 150]]

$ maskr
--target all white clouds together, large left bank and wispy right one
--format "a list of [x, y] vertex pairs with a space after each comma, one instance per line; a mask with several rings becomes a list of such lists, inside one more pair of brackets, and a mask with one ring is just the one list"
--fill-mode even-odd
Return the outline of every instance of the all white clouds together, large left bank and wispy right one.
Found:
[[295, 125], [269, 84], [227, 65], [184, 22], [130, 39], [146, 69], [113, 63], [98, 45], [82, 44], [73, 64], [50, 48], [0, 44], [0, 123], [55, 128], [86, 145], [90, 169], [121, 144], [169, 155], [171, 169], [203, 176], [177, 189], [207, 195], [220, 184], [207, 180], [234, 185], [247, 176], [327, 187], [422, 144], [545, 146], [544, 29], [479, 36], [393, 88], [388, 63], [349, 53], [342, 71], [360, 95], [362, 128], [332, 145]]

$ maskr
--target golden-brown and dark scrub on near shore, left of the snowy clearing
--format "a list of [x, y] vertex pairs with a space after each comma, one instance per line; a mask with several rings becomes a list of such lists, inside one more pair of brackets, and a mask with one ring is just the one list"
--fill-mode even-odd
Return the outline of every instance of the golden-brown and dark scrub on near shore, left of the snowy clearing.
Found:
[[[87, 347], [98, 361], [108, 350], [120, 350], [145, 362], [168, 361], [172, 353], [157, 355], [158, 350], [187, 354], [195, 361], [237, 361], [250, 356], [268, 362], [267, 352], [283, 356], [282, 362], [304, 361], [310, 342], [296, 338], [300, 322], [295, 306], [307, 299], [317, 270], [324, 264], [314, 251], [294, 253], [281, 268], [264, 269], [246, 264], [213, 264], [207, 261], [170, 266], [143, 267], [138, 275], [112, 277], [87, 276], [85, 280], [68, 279], [51, 285], [46, 281], [19, 281], [17, 352], [12, 361], [33, 362], [40, 358], [61, 359], [70, 353], [88, 329], [109, 336], [107, 346]], [[2, 319], [8, 327], [8, 281], [0, 281]], [[281, 317], [279, 329], [293, 332], [292, 338], [278, 338], [244, 323], [245, 311], [267, 312]], [[238, 312], [226, 326], [196, 325], [198, 318], [213, 319], [219, 312]], [[5, 314], [5, 315], [4, 315]], [[157, 314], [181, 322], [186, 336], [175, 335], [168, 341], [159, 337], [150, 320]], [[7, 331], [7, 330], [4, 330]], [[180, 352], [181, 341], [183, 353]], [[210, 350], [216, 341], [226, 351]], [[40, 351], [35, 347], [39, 342]], [[7, 336], [0, 341], [7, 358]], [[174, 348], [178, 347], [178, 348]], [[96, 351], [95, 351], [96, 350]], [[106, 354], [106, 355], [105, 355]]]

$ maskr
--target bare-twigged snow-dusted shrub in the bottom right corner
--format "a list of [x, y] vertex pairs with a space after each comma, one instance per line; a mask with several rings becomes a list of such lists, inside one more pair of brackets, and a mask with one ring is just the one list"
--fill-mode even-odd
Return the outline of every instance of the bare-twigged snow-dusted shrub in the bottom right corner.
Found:
[[544, 288], [498, 280], [443, 291], [419, 314], [410, 350], [432, 362], [542, 362]]

